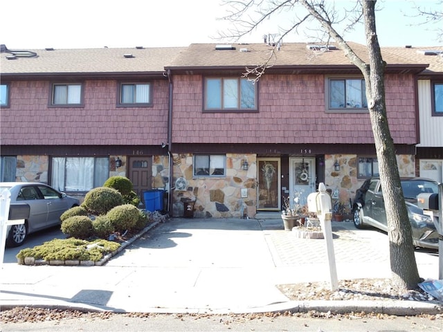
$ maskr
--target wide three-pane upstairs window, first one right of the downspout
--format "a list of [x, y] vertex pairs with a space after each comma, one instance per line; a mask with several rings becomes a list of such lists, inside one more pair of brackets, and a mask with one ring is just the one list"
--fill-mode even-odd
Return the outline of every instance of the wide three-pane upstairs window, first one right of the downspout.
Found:
[[246, 78], [206, 78], [206, 111], [256, 111], [257, 98], [253, 81]]

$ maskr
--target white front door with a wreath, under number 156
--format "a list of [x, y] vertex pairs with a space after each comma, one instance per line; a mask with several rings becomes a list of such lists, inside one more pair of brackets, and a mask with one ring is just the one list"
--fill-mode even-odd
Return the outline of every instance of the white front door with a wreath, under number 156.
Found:
[[307, 204], [307, 196], [316, 191], [316, 158], [289, 158], [289, 197], [291, 208]]

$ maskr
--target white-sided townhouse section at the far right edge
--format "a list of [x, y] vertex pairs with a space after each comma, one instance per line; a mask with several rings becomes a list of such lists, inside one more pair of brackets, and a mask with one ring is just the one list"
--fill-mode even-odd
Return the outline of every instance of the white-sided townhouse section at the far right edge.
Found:
[[443, 47], [389, 48], [406, 59], [429, 64], [417, 75], [419, 141], [416, 174], [443, 182]]

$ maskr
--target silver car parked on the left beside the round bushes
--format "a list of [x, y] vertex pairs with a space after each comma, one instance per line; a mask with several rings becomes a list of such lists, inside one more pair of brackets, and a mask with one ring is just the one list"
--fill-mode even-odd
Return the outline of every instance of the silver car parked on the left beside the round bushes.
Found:
[[80, 201], [55, 190], [44, 183], [2, 182], [0, 192], [8, 189], [11, 204], [29, 205], [29, 216], [24, 224], [8, 227], [6, 246], [21, 246], [28, 234], [60, 224], [66, 210], [80, 205]]

